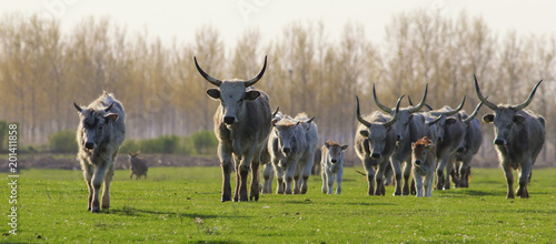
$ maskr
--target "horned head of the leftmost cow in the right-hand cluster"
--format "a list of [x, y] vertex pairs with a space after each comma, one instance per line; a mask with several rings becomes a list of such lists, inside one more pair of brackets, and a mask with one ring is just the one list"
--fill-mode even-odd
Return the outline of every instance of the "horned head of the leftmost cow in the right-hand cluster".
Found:
[[367, 130], [359, 131], [359, 134], [361, 136], [364, 136], [365, 139], [367, 139], [367, 141], [369, 143], [370, 157], [379, 159], [386, 149], [386, 141], [387, 141], [388, 133], [390, 133], [390, 130], [391, 130], [394, 123], [396, 123], [396, 121], [398, 120], [399, 103], [401, 102], [401, 99], [404, 98], [404, 95], [401, 95], [398, 99], [398, 103], [396, 104], [396, 110], [395, 110], [394, 116], [385, 123], [371, 123], [371, 122], [368, 122], [365, 119], [363, 119], [363, 116], [359, 112], [359, 98], [357, 95], [355, 98], [357, 100], [357, 110], [356, 110], [357, 120], [359, 121], [359, 123], [361, 123], [363, 125], [365, 125], [367, 128]]

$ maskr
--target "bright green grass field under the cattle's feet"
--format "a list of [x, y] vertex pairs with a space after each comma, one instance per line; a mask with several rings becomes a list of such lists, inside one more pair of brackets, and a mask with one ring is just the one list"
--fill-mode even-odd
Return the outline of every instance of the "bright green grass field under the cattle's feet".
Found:
[[[220, 202], [219, 167], [153, 167], [148, 180], [117, 171], [109, 212], [87, 211], [80, 171], [26, 170], [18, 180], [17, 235], [2, 243], [554, 243], [556, 169], [536, 169], [530, 199], [506, 200], [499, 169], [474, 169], [470, 187], [434, 191], [431, 199], [367, 196], [347, 167], [341, 195], [309, 179], [305, 195], [261, 195], [258, 202]], [[0, 174], [2, 233], [10, 226], [10, 189]], [[276, 182], [274, 184], [276, 187]]]

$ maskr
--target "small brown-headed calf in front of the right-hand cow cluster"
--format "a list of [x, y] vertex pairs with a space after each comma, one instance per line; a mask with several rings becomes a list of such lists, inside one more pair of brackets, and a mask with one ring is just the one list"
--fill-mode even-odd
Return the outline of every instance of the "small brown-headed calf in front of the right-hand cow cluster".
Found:
[[433, 196], [435, 183], [436, 150], [434, 142], [424, 136], [411, 143], [411, 162], [417, 197]]

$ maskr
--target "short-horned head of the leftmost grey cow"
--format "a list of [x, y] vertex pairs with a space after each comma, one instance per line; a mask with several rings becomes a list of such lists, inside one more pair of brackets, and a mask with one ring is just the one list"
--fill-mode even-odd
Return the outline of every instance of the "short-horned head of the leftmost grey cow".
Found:
[[113, 103], [103, 109], [82, 109], [76, 103], [73, 103], [73, 105], [77, 111], [79, 111], [79, 118], [81, 119], [81, 131], [78, 132], [78, 143], [80, 143], [85, 149], [93, 150], [100, 145], [103, 140], [105, 126], [118, 120], [118, 114], [109, 113]]

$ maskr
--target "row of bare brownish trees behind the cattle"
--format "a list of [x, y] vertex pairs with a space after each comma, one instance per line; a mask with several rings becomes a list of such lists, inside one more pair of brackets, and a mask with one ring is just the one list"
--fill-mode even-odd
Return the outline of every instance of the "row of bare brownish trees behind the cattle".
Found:
[[[212, 77], [249, 79], [268, 55], [257, 88], [269, 95], [272, 110], [316, 116], [322, 142], [353, 143], [355, 95], [363, 112], [378, 109], [373, 83], [390, 106], [401, 94], [419, 100], [428, 83], [427, 104], [455, 108], [467, 95], [464, 109], [470, 112], [479, 102], [473, 74], [495, 103], [520, 103], [544, 79], [528, 109], [546, 118], [547, 134], [556, 132], [550, 123], [556, 111], [549, 109], [556, 105], [549, 96], [556, 75], [554, 33], [497, 33], [465, 11], [447, 17], [423, 9], [393, 16], [381, 43], [370, 42], [374, 33], [360, 22], [347, 22], [338, 41], [330, 41], [318, 21], [292, 21], [266, 43], [258, 29], [247, 30], [235, 44], [212, 26], [189, 31], [195, 40], [165, 42], [110, 18], [89, 17], [62, 33], [57, 20], [6, 13], [0, 21], [0, 120], [20, 123], [21, 143], [46, 143], [54, 132], [76, 129], [72, 102], [88, 104], [106, 90], [125, 105], [128, 139], [190, 135], [212, 130], [218, 105], [207, 98], [211, 84], [198, 74], [192, 57]], [[493, 129], [481, 129], [484, 145], [492, 150]], [[553, 161], [556, 139], [546, 138], [543, 159]]]

